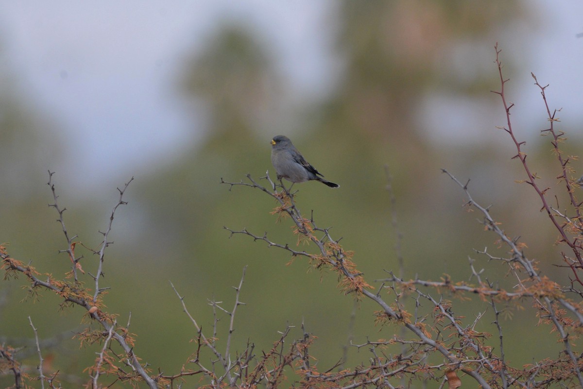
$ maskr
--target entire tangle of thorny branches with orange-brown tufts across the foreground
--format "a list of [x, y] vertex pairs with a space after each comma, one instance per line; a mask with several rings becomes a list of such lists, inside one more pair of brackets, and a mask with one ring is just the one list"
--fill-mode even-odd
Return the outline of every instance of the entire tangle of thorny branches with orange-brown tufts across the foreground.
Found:
[[[487, 260], [496, 262], [499, 266], [508, 268], [508, 274], [515, 278], [515, 286], [505, 290], [494, 286], [487, 277], [482, 275], [482, 270], [476, 270], [473, 260], [470, 260], [470, 280], [475, 278], [477, 284], [470, 284], [466, 281], [454, 281], [449, 276], [444, 275], [441, 281], [406, 280], [402, 269], [396, 276], [389, 271], [389, 277], [382, 280], [380, 287], [373, 288], [368, 284], [364, 275], [357, 270], [356, 264], [352, 261], [353, 253], [343, 249], [338, 240], [333, 239], [328, 228], [318, 227], [313, 215], [310, 218], [304, 217], [294, 201], [295, 193], [283, 186], [282, 182], [273, 182], [269, 175], [262, 177], [268, 181], [268, 185], [263, 186], [255, 181], [251, 175], [247, 175], [248, 181], [221, 182], [230, 185], [230, 190], [234, 186], [244, 186], [251, 189], [259, 189], [261, 192], [276, 201], [273, 214], [278, 215], [280, 220], [289, 218], [294, 226], [294, 234], [297, 236], [297, 243], [309, 242], [315, 247], [315, 253], [307, 250], [296, 250], [288, 243], [282, 244], [273, 242], [268, 238], [267, 233], [256, 235], [247, 229], [234, 230], [224, 227], [230, 232], [230, 236], [242, 234], [250, 236], [254, 241], [267, 243], [268, 247], [278, 247], [285, 250], [292, 257], [304, 257], [311, 266], [319, 269], [328, 269], [336, 273], [339, 279], [339, 288], [345, 294], [353, 295], [356, 301], [368, 299], [374, 302], [379, 310], [374, 312], [375, 323], [381, 327], [398, 325], [404, 331], [396, 335], [396, 331], [391, 331], [389, 340], [367, 340], [361, 344], [352, 344], [356, 349], [367, 348], [370, 351], [370, 359], [361, 366], [352, 369], [343, 369], [337, 363], [324, 372], [319, 370], [317, 363], [314, 363], [310, 355], [310, 346], [314, 342], [314, 337], [307, 333], [303, 324], [303, 338], [289, 341], [289, 334], [293, 326], [289, 326], [281, 333], [279, 340], [273, 343], [269, 351], [262, 352], [260, 356], [255, 355], [255, 345], [250, 341], [243, 351], [234, 353], [233, 334], [235, 329], [235, 316], [238, 306], [244, 305], [240, 300], [240, 292], [243, 287], [245, 268], [237, 287], [234, 287], [235, 301], [232, 309], [225, 309], [215, 300], [210, 301], [210, 305], [215, 313], [213, 333], [205, 335], [194, 317], [188, 312], [184, 302], [184, 297], [180, 296], [177, 289], [172, 285], [174, 292], [181, 301], [182, 309], [196, 328], [195, 351], [189, 356], [187, 363], [175, 374], [164, 374], [159, 371], [152, 375], [147, 363], [142, 363], [141, 359], [134, 353], [134, 335], [129, 333], [128, 326], [119, 327], [117, 325], [117, 315], [104, 311], [103, 291], [100, 288], [99, 278], [103, 275], [104, 251], [110, 242], [108, 235], [113, 225], [114, 214], [120, 205], [126, 204], [122, 200], [130, 179], [123, 189], [118, 188], [120, 197], [110, 215], [110, 220], [103, 235], [103, 242], [100, 243], [99, 250], [92, 250], [99, 255], [97, 273], [93, 277], [95, 289], [89, 293], [79, 280], [77, 272], [83, 272], [79, 260], [82, 257], [75, 256], [76, 236], [70, 236], [65, 228], [64, 211], [57, 202], [58, 196], [52, 184], [52, 175], [49, 172], [48, 185], [54, 198], [54, 207], [59, 215], [58, 221], [64, 232], [68, 249], [62, 250], [69, 254], [72, 261], [72, 271], [68, 278], [73, 278], [73, 282], [57, 280], [52, 275], [46, 280], [41, 280], [38, 273], [30, 264], [23, 264], [21, 261], [11, 258], [5, 247], [0, 245], [0, 259], [2, 268], [5, 270], [5, 277], [16, 277], [23, 274], [29, 280], [29, 293], [36, 293], [37, 289], [52, 291], [61, 296], [62, 306], [78, 305], [87, 311], [87, 316], [95, 323], [99, 324], [99, 330], [86, 330], [79, 334], [82, 344], [100, 343], [100, 352], [97, 352], [96, 362], [89, 370], [90, 381], [87, 387], [97, 389], [99, 378], [103, 375], [113, 375], [115, 380], [129, 382], [133, 387], [138, 387], [139, 383], [145, 382], [150, 388], [174, 388], [175, 383], [180, 381], [178, 388], [182, 387], [184, 379], [189, 376], [201, 374], [208, 379], [208, 388], [257, 388], [259, 386], [269, 389], [280, 387], [286, 379], [289, 370], [298, 376], [298, 379], [291, 384], [292, 387], [303, 389], [352, 389], [365, 387], [395, 388], [404, 387], [412, 380], [436, 380], [441, 381], [441, 386], [447, 381], [450, 389], [461, 384], [456, 372], [463, 372], [472, 377], [482, 388], [510, 388], [513, 386], [520, 388], [546, 388], [552, 384], [559, 383], [561, 387], [583, 387], [583, 377], [581, 374], [581, 352], [576, 350], [573, 340], [581, 334], [583, 328], [583, 305], [580, 302], [567, 299], [565, 293], [573, 292], [575, 296], [583, 296], [581, 291], [574, 288], [573, 283], [583, 285], [578, 277], [578, 271], [583, 268], [583, 261], [580, 250], [581, 245], [581, 213], [575, 199], [573, 189], [578, 182], [571, 178], [573, 170], [569, 165], [570, 158], [563, 158], [559, 149], [559, 144], [565, 139], [562, 132], [557, 132], [554, 123], [557, 111], [551, 112], [547, 104], [545, 89], [535, 78], [535, 84], [539, 87], [545, 102], [550, 128], [543, 133], [552, 135], [552, 144], [557, 155], [557, 160], [561, 165], [561, 174], [557, 177], [566, 182], [566, 189], [570, 196], [570, 204], [574, 209], [574, 215], [561, 213], [559, 207], [553, 208], [547, 204], [545, 199], [549, 188], [541, 189], [536, 183], [538, 176], [532, 173], [526, 162], [526, 154], [522, 150], [524, 142], [519, 142], [515, 137], [512, 123], [510, 121], [510, 110], [512, 103], [508, 103], [505, 96], [504, 86], [508, 82], [504, 79], [501, 61], [499, 59], [500, 50], [496, 45], [496, 63], [500, 74], [500, 91], [496, 91], [504, 105], [507, 117], [507, 125], [502, 127], [507, 132], [517, 148], [517, 154], [513, 158], [518, 158], [525, 169], [529, 183], [535, 192], [538, 193], [542, 201], [542, 209], [546, 211], [550, 221], [559, 231], [560, 242], [566, 243], [573, 252], [573, 258], [566, 253], [561, 253], [567, 266], [571, 268], [575, 275], [575, 280], [570, 288], [563, 288], [561, 285], [549, 280], [536, 267], [536, 261], [529, 259], [524, 253], [524, 245], [518, 242], [518, 238], [510, 238], [500, 227], [500, 223], [494, 220], [489, 208], [484, 208], [472, 199], [468, 190], [468, 183], [461, 183], [452, 174], [443, 169], [457, 185], [459, 185], [468, 198], [465, 204], [468, 207], [476, 208], [483, 217], [483, 224], [488, 231], [493, 232], [500, 242], [507, 248], [510, 256], [508, 258], [491, 255], [487, 249], [477, 251], [486, 257]], [[278, 190], [281, 189], [279, 192]], [[392, 199], [392, 203], [394, 199]], [[563, 222], [564, 221], [564, 222]], [[400, 238], [398, 238], [400, 239]], [[398, 241], [399, 243], [399, 241]], [[399, 253], [399, 261], [402, 261]], [[525, 277], [524, 274], [527, 276]], [[43, 275], [43, 277], [44, 277]], [[484, 281], [485, 280], [485, 281]], [[437, 292], [437, 294], [435, 293]], [[444, 293], [451, 296], [459, 296], [462, 299], [479, 298], [487, 303], [484, 312], [477, 312], [473, 319], [466, 321], [466, 318], [454, 313], [454, 304], [444, 298]], [[412, 298], [406, 299], [407, 296]], [[553, 331], [560, 337], [563, 351], [555, 359], [544, 359], [532, 365], [515, 367], [511, 365], [505, 357], [505, 343], [503, 328], [500, 321], [500, 313], [505, 308], [500, 306], [521, 306], [524, 301], [531, 301], [536, 309], [540, 323], [552, 327]], [[412, 310], [408, 310], [405, 302], [415, 303]], [[424, 302], [429, 302], [428, 308], [423, 306]], [[490, 309], [491, 307], [491, 309]], [[488, 312], [491, 311], [491, 312]], [[489, 341], [490, 334], [478, 330], [480, 320], [489, 313], [493, 316], [493, 323], [496, 326], [498, 337], [495, 341]], [[217, 323], [220, 316], [229, 317], [229, 329], [224, 337], [224, 352], [219, 349], [219, 333]], [[43, 372], [43, 359], [41, 348], [38, 342], [37, 330], [29, 317], [30, 326], [36, 336], [36, 346], [40, 364], [38, 365], [39, 380], [44, 388], [44, 383], [54, 387], [56, 373], [47, 377]], [[409, 338], [406, 338], [409, 336]], [[121, 346], [122, 352], [114, 352], [112, 344], [116, 343], [116, 348]], [[399, 353], [391, 353], [392, 345], [399, 345]], [[497, 349], [496, 349], [497, 348]], [[495, 353], [496, 351], [497, 353]], [[9, 371], [15, 378], [15, 388], [26, 387], [26, 382], [31, 379], [22, 372], [20, 364], [13, 357], [14, 350], [0, 345], [0, 371]], [[209, 356], [209, 358], [206, 358]], [[210, 363], [210, 365], [209, 365]], [[188, 364], [195, 366], [189, 369]], [[131, 369], [129, 370], [128, 369]], [[129, 372], [126, 372], [125, 370]], [[24, 381], [24, 382], [23, 382]], [[399, 382], [399, 385], [392, 383]], [[115, 381], [114, 381], [115, 382]], [[111, 384], [113, 385], [113, 384]], [[101, 386], [103, 387], [103, 386]]]

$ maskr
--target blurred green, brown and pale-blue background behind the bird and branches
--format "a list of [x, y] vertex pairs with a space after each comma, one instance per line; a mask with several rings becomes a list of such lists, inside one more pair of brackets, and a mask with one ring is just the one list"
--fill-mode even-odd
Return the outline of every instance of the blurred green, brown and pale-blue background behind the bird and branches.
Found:
[[[398, 270], [400, 232], [407, 278], [468, 280], [473, 258], [490, 280], [512, 286], [505, 268], [475, 253], [504, 249], [463, 210], [463, 193], [440, 168], [471, 178], [475, 199], [492, 206], [509, 235], [521, 236], [546, 274], [567, 280], [567, 271], [554, 266], [557, 234], [539, 213], [536, 193], [515, 183], [524, 174], [510, 159], [507, 134], [496, 129], [505, 116], [490, 90], [499, 88], [498, 42], [517, 135], [528, 142], [543, 185], [560, 193], [530, 73], [550, 84], [550, 107], [563, 108], [559, 126], [570, 137], [566, 155], [577, 155], [582, 14], [581, 3], [543, 1], [2, 1], [0, 241], [41, 272], [64, 274], [69, 260], [58, 250], [66, 241], [47, 207], [47, 170], [56, 172], [69, 232], [90, 247], [101, 242], [115, 188], [134, 176], [129, 204], [114, 220], [104, 282], [110, 312], [120, 322], [131, 312], [136, 353], [177, 372], [194, 351], [195, 328], [168, 281], [210, 331], [208, 300], [230, 307], [230, 287], [248, 266], [236, 348], [247, 340], [269, 348], [277, 331], [303, 321], [318, 337], [314, 355], [325, 370], [350, 338], [390, 338], [399, 329], [374, 327], [375, 307], [341, 295], [332, 274], [321, 277], [302, 259], [286, 266], [285, 252], [245, 236], [229, 239], [223, 229], [295, 242], [289, 223], [270, 214], [272, 199], [220, 185], [220, 178], [238, 182], [247, 173], [273, 176], [269, 140], [287, 135], [341, 186], [298, 185], [298, 207], [343, 237], [369, 281]], [[96, 258], [85, 255], [83, 268], [94, 271]], [[32, 351], [31, 316], [41, 338], [57, 340], [45, 349], [53, 368], [70, 372], [71, 382], [83, 380], [93, 349], [79, 349], [71, 336], [85, 325], [84, 312], [61, 312], [48, 293], [23, 301], [23, 283], [0, 285], [2, 341]], [[469, 324], [487, 305], [459, 309]], [[480, 328], [490, 330], [490, 321]], [[550, 328], [537, 321], [528, 307], [504, 316], [505, 351], [518, 366], [559, 352]], [[36, 366], [34, 358], [25, 362]], [[364, 349], [352, 349], [346, 365], [367, 358]]]

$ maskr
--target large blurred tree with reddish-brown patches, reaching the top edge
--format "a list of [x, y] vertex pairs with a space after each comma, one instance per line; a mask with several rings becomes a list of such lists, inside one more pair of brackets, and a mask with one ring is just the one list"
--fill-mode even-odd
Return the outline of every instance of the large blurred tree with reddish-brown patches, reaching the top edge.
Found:
[[[434, 89], [465, 98], [487, 93], [491, 88], [484, 91], [485, 80], [490, 87], [495, 81], [487, 67], [491, 61], [477, 63], [486, 71], [460, 77], [455, 70], [465, 64], [456, 63], [454, 53], [461, 48], [465, 58], [486, 52], [490, 59], [493, 31], [526, 16], [519, 2], [494, 1], [485, 8], [479, 2], [447, 0], [342, 2], [336, 49], [346, 71], [338, 93], [326, 103], [331, 104], [324, 111], [328, 115], [320, 114], [318, 127], [324, 131], [319, 139], [333, 136], [352, 147], [362, 144], [370, 150], [355, 155], [407, 166], [406, 184], [423, 182], [427, 166], [440, 158], [419, 129], [423, 98]], [[463, 45], [467, 42], [473, 43], [470, 50]]]

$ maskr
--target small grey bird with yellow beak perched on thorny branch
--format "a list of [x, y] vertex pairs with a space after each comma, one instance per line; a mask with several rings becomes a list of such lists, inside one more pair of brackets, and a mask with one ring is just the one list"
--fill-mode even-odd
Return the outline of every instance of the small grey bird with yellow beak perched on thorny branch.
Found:
[[322, 178], [324, 175], [305, 161], [287, 136], [278, 135], [271, 140], [271, 144], [271, 163], [278, 174], [278, 179], [285, 178], [293, 183], [315, 180], [325, 183], [330, 188], [340, 186]]

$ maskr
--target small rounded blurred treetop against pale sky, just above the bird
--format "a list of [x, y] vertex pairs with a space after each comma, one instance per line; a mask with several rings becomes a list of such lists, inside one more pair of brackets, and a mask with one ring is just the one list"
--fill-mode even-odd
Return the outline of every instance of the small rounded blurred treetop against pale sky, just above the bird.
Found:
[[[197, 102], [202, 98], [208, 110], [210, 148], [216, 147], [217, 139], [234, 134], [252, 137], [258, 118], [269, 112], [281, 91], [271, 55], [242, 26], [218, 29], [206, 48], [189, 61], [184, 77], [184, 96], [197, 97]], [[219, 142], [219, 150], [224, 146]]]

